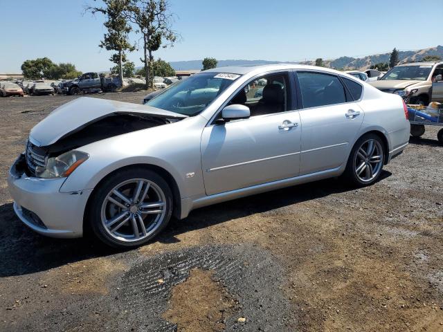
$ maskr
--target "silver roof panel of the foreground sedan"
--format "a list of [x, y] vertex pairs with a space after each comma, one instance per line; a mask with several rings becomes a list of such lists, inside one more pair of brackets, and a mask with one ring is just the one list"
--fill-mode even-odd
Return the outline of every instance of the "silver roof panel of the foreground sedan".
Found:
[[[316, 67], [307, 66], [305, 64], [257, 64], [255, 66], [227, 66], [227, 67], [217, 67], [213, 69], [208, 69], [207, 71], [201, 71], [200, 73], [230, 73], [244, 75], [251, 73], [253, 71], [263, 72], [263, 71], [279, 71], [288, 69], [314, 69], [320, 71], [328, 71], [331, 73], [338, 73], [331, 68], [326, 67]], [[198, 74], [196, 74], [198, 75]]]

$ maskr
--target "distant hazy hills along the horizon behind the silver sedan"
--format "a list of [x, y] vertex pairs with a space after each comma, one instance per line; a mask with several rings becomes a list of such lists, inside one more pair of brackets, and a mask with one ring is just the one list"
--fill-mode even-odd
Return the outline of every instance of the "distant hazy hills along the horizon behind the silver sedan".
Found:
[[[431, 48], [424, 48], [422, 50], [400, 50], [399, 60], [400, 63], [404, 62], [417, 62], [420, 61], [426, 55], [438, 55], [443, 59], [443, 46], [436, 46]], [[319, 55], [321, 57], [321, 55]], [[338, 57], [337, 59], [323, 59], [325, 66], [336, 69], [368, 69], [372, 64], [378, 64], [379, 62], [389, 62], [390, 53], [368, 55], [367, 57]], [[201, 62], [203, 60], [190, 60], [190, 61], [173, 61], [170, 62], [172, 68], [176, 71], [190, 71], [195, 69], [201, 69]], [[257, 64], [288, 64], [293, 62], [280, 62], [269, 60], [218, 60], [217, 67], [225, 66], [253, 66]], [[315, 65], [315, 60], [298, 62], [300, 64]], [[137, 67], [136, 69], [141, 68]]]

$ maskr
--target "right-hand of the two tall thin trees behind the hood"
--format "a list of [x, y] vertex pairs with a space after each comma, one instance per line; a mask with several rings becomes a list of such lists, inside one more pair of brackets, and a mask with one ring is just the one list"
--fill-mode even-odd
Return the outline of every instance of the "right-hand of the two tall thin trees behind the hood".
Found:
[[146, 87], [153, 86], [154, 55], [160, 47], [173, 46], [179, 35], [172, 30], [173, 15], [167, 0], [129, 0], [128, 17], [143, 37]]

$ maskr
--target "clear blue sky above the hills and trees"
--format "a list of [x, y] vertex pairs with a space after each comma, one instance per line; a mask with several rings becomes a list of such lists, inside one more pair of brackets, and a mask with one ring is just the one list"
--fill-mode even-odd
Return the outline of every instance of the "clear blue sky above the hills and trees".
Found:
[[[49, 57], [78, 70], [107, 71], [98, 47], [105, 19], [84, 12], [100, 0], [0, 0], [0, 73]], [[203, 59], [300, 61], [361, 57], [443, 44], [433, 13], [443, 0], [170, 0], [181, 40], [154, 53], [168, 62]], [[422, 8], [422, 9], [420, 9]], [[135, 33], [133, 43], [139, 42]], [[139, 44], [141, 46], [141, 43]], [[141, 47], [129, 54], [141, 66]]]

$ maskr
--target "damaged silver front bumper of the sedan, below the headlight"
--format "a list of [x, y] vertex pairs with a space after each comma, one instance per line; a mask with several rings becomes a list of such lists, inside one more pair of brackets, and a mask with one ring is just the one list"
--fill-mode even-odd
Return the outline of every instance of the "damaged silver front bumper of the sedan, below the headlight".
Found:
[[92, 190], [62, 193], [65, 180], [26, 175], [25, 156], [21, 154], [8, 174], [8, 189], [19, 219], [49, 237], [82, 237], [84, 209]]

